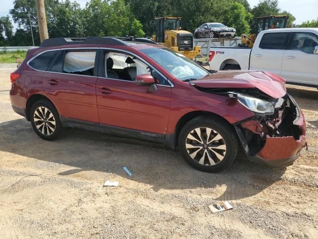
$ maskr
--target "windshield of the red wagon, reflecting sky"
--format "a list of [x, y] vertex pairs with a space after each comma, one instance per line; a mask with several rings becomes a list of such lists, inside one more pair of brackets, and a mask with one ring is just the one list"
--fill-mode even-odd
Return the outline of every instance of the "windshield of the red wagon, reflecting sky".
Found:
[[169, 48], [147, 48], [140, 51], [182, 81], [197, 80], [210, 75], [203, 67]]

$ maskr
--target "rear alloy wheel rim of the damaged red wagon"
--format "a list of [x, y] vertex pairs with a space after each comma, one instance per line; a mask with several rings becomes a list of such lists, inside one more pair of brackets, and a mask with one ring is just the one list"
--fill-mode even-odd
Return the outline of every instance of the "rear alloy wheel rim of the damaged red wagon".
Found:
[[40, 106], [34, 111], [34, 124], [43, 135], [51, 135], [55, 131], [56, 121], [53, 113], [46, 107]]

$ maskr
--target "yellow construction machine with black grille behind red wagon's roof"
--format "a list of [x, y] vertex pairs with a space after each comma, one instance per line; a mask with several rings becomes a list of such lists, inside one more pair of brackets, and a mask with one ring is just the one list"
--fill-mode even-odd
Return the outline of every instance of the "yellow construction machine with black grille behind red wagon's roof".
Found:
[[153, 41], [168, 47], [190, 59], [201, 55], [201, 47], [193, 47], [193, 34], [181, 30], [182, 17], [158, 17], [155, 19], [156, 35]]

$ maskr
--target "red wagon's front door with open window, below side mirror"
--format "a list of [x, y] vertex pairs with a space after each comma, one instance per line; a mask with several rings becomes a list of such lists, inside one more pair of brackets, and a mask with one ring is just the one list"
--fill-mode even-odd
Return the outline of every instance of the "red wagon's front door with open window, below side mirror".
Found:
[[[100, 126], [110, 125], [145, 132], [165, 134], [167, 130], [171, 87], [167, 80], [136, 56], [118, 52], [100, 52], [99, 77], [96, 84]], [[152, 74], [157, 92], [137, 86], [135, 77]]]

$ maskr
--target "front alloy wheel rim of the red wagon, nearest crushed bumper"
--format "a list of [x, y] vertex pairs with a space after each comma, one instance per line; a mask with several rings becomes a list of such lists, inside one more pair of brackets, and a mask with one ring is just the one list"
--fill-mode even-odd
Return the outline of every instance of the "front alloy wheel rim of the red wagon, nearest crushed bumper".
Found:
[[227, 150], [222, 135], [208, 127], [199, 127], [190, 131], [185, 140], [185, 147], [195, 162], [205, 166], [220, 163]]

